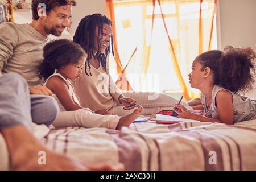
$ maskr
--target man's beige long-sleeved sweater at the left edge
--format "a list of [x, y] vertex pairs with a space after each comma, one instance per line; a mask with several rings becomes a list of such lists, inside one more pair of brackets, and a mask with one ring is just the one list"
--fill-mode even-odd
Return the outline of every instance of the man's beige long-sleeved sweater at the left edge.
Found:
[[42, 84], [37, 67], [43, 60], [43, 47], [48, 37], [30, 24], [0, 24], [0, 74], [19, 73], [29, 86]]

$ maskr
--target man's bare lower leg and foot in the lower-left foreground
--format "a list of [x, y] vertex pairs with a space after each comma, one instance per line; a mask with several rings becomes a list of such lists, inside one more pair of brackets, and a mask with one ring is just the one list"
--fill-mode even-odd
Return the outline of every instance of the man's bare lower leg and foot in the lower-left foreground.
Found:
[[[49, 151], [34, 137], [26, 126], [16, 125], [2, 128], [10, 154], [12, 170], [122, 170], [122, 164], [94, 164], [85, 166], [79, 160]], [[39, 164], [39, 151], [46, 152], [46, 164]]]

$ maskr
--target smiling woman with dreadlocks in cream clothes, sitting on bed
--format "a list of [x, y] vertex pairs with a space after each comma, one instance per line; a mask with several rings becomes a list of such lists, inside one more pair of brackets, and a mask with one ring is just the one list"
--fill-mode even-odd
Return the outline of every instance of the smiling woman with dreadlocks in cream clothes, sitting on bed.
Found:
[[[122, 94], [108, 71], [108, 56], [110, 51], [114, 56], [114, 52], [112, 22], [106, 16], [85, 16], [77, 27], [73, 41], [80, 44], [87, 53], [85, 71], [73, 82], [82, 107], [89, 107], [93, 111], [106, 108], [102, 114], [125, 115], [138, 101], [144, 107], [142, 114], [150, 115], [160, 110], [170, 110], [177, 103], [177, 100], [165, 94], [159, 94], [155, 100], [148, 99], [149, 93], [126, 93], [125, 96]], [[183, 102], [183, 105], [187, 103]]]

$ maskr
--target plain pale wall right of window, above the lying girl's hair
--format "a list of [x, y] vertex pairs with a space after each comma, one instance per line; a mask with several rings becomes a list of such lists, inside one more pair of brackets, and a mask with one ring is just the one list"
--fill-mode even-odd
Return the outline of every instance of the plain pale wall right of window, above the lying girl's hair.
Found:
[[[218, 28], [221, 41], [219, 49], [233, 47], [251, 47], [256, 51], [256, 1], [255, 0], [219, 0]], [[239, 80], [239, 78], [238, 78]], [[256, 83], [249, 97], [256, 97]]]

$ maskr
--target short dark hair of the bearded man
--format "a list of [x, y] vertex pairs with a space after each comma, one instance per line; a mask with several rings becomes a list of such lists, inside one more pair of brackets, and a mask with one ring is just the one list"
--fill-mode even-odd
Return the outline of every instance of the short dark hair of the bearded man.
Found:
[[46, 5], [46, 14], [53, 10], [56, 6], [65, 6], [65, 5], [70, 5], [70, 6], [76, 6], [76, 0], [32, 0], [32, 19], [33, 20], [38, 20], [39, 15], [38, 15], [38, 5], [40, 3], [44, 3]]

